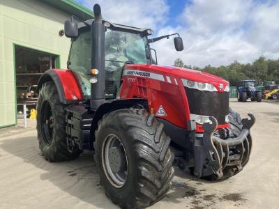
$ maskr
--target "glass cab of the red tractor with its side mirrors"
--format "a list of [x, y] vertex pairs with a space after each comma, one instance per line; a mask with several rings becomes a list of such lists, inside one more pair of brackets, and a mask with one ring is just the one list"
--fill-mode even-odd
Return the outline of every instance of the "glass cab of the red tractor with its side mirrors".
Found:
[[[68, 69], [75, 73], [85, 98], [91, 95], [91, 57], [94, 49], [91, 45], [91, 27], [94, 20], [80, 22], [73, 27], [66, 26], [65, 34], [71, 39], [70, 54], [68, 56]], [[171, 34], [149, 39], [153, 33], [151, 29], [140, 29], [133, 26], [113, 24], [102, 20], [105, 26], [105, 99], [115, 99], [121, 86], [121, 75], [125, 64], [156, 64], [157, 57], [152, 58], [150, 43], [169, 38]], [[71, 20], [71, 24], [76, 23]], [[72, 32], [76, 30], [75, 36]], [[180, 37], [174, 38], [177, 51], [183, 49]], [[155, 54], [156, 51], [153, 49]], [[91, 81], [91, 82], [90, 82]]]

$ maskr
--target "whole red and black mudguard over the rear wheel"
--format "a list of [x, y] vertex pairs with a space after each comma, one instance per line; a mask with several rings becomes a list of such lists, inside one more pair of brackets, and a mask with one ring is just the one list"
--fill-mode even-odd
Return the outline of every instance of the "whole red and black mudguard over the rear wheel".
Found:
[[72, 104], [82, 101], [83, 95], [77, 79], [71, 70], [51, 69], [44, 72], [38, 81], [37, 92], [45, 82], [54, 82], [62, 104]]

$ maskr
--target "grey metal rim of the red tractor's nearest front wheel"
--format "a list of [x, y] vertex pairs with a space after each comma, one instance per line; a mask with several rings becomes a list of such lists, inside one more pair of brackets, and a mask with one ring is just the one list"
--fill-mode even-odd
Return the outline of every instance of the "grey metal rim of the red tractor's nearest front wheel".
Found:
[[114, 134], [108, 135], [103, 144], [102, 153], [103, 168], [107, 179], [114, 187], [123, 187], [128, 176], [128, 160], [120, 139]]

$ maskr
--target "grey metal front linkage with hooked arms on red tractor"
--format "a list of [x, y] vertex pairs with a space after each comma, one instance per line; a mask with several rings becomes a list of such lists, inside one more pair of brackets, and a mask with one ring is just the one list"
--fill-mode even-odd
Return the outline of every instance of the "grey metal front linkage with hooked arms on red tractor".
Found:
[[[215, 174], [217, 179], [223, 178], [223, 171], [228, 166], [236, 167], [237, 171], [241, 171], [242, 165], [249, 159], [251, 144], [248, 141], [248, 134], [255, 124], [255, 117], [252, 114], [248, 116], [250, 119], [241, 120], [243, 126], [239, 136], [229, 139], [220, 139], [213, 135], [218, 125], [216, 118], [210, 117], [211, 123], [204, 123], [204, 136], [197, 138], [194, 146], [194, 175], [197, 178], [212, 174]], [[240, 157], [229, 155], [229, 148], [232, 146], [238, 146]]]

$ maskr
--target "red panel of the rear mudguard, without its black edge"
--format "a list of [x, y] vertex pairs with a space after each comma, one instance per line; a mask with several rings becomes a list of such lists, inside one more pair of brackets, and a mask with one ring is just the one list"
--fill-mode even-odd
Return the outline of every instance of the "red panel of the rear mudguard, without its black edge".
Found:
[[80, 86], [70, 70], [52, 69], [58, 75], [63, 86], [66, 100], [83, 100]]

